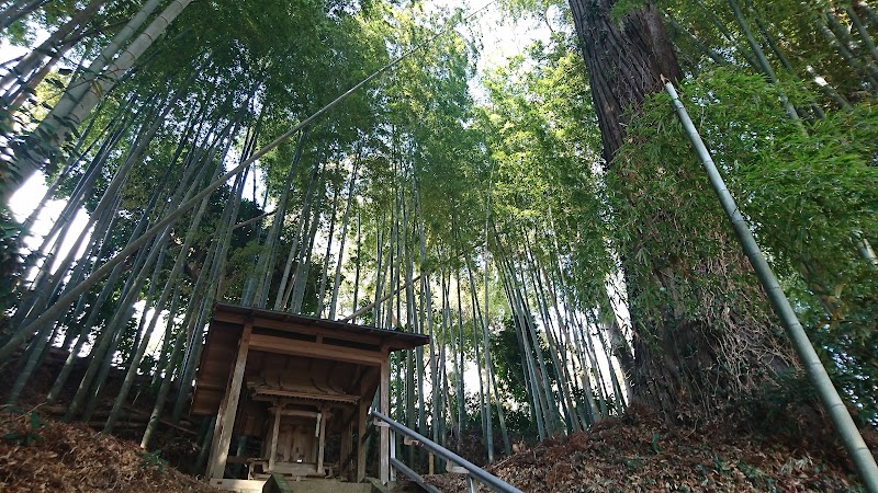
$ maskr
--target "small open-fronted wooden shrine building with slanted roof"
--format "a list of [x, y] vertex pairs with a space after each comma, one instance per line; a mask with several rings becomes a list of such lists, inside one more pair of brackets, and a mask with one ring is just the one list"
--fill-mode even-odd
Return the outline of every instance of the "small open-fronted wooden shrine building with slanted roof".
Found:
[[[192, 399], [192, 414], [216, 415], [207, 480], [237, 491], [259, 491], [272, 473], [362, 481], [367, 414], [378, 390], [380, 411], [389, 414], [390, 353], [428, 341], [426, 335], [216, 305]], [[229, 456], [233, 435], [248, 438], [248, 454]], [[380, 435], [384, 467], [386, 428]], [[227, 478], [227, 465], [239, 465], [239, 475], [246, 471], [247, 478]]]

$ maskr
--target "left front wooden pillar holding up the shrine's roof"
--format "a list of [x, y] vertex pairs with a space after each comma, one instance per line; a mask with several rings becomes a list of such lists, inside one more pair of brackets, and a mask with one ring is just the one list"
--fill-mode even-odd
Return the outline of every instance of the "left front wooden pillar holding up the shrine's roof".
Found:
[[250, 349], [250, 334], [254, 330], [252, 320], [247, 320], [238, 341], [238, 354], [235, 357], [235, 369], [228, 380], [219, 414], [213, 432], [213, 448], [211, 459], [207, 461], [207, 479], [222, 479], [228, 459], [228, 447], [232, 445], [232, 429], [235, 427], [235, 415], [238, 412], [240, 386], [244, 382], [244, 369], [247, 366], [247, 352]]

